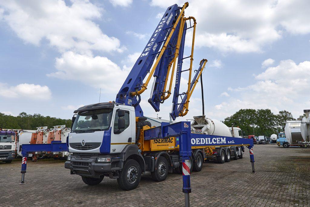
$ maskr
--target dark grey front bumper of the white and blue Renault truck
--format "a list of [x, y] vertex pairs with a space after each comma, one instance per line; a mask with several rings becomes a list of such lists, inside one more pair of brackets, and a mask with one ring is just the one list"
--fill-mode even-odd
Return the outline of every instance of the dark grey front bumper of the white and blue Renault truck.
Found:
[[[74, 174], [92, 178], [100, 178], [102, 174], [122, 169], [123, 160], [120, 157], [113, 157], [110, 163], [96, 163], [97, 157], [98, 155], [92, 155], [89, 158], [83, 158], [73, 154], [71, 160], [64, 163], [64, 167]], [[104, 156], [100, 155], [100, 157]]]

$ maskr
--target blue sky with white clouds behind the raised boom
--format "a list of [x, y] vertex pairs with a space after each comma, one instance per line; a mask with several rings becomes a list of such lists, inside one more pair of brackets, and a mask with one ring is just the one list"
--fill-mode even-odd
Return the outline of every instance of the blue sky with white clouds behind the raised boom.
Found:
[[[193, 68], [208, 60], [207, 117], [224, 120], [252, 108], [288, 110], [297, 118], [310, 108], [310, 1], [188, 2], [185, 16], [197, 19]], [[0, 112], [70, 119], [99, 97], [114, 101], [163, 12], [175, 3], [184, 1], [0, 0]], [[184, 56], [191, 36], [188, 29]], [[188, 66], [187, 59], [183, 68]], [[144, 115], [169, 119], [171, 98], [155, 112], [149, 93], [142, 94]], [[177, 121], [201, 113], [199, 83], [188, 115]]]

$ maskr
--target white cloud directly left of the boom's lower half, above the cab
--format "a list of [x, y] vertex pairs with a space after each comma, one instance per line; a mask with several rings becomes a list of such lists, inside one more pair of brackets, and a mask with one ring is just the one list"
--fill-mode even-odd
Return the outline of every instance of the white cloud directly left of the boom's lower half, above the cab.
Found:
[[60, 58], [56, 58], [55, 67], [58, 71], [48, 76], [77, 80], [94, 88], [102, 88], [106, 93], [118, 92], [129, 73], [107, 57], [74, 52], [65, 52]]

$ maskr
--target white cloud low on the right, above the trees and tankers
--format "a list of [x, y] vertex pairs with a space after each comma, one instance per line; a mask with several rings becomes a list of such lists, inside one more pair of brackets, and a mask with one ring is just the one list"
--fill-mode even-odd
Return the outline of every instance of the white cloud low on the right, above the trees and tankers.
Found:
[[296, 64], [292, 60], [280, 61], [255, 75], [256, 83], [242, 88], [231, 88], [228, 100], [216, 105], [219, 112], [209, 114], [219, 119], [232, 115], [239, 109], [270, 109], [273, 113], [288, 110], [295, 117], [310, 107], [310, 61]]

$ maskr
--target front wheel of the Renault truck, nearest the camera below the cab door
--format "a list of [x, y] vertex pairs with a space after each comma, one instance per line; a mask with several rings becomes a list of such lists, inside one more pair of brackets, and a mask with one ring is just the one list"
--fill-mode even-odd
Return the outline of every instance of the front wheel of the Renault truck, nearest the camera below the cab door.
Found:
[[130, 191], [135, 189], [141, 179], [141, 168], [137, 161], [126, 160], [122, 171], [117, 178], [119, 187], [123, 190]]

